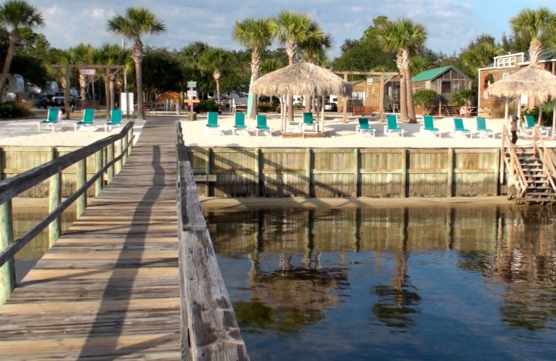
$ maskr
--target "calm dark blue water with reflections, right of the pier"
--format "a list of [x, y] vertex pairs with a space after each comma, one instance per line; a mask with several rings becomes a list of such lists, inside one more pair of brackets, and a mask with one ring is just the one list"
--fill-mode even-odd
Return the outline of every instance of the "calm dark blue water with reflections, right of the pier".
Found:
[[554, 360], [542, 208], [210, 212], [252, 360]]

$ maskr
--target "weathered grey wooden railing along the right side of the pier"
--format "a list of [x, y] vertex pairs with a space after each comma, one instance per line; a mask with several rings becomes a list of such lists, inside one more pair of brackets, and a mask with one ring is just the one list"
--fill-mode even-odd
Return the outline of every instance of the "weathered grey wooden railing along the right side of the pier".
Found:
[[182, 360], [249, 360], [204, 219], [177, 121]]

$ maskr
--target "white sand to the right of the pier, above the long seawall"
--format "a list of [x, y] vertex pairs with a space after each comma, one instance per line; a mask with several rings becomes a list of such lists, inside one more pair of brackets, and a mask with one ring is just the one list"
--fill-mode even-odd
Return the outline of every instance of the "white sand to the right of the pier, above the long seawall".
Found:
[[[302, 121], [301, 115], [296, 114], [295, 120]], [[384, 135], [384, 125], [377, 119], [370, 119], [369, 124], [376, 129], [375, 137], [371, 135], [358, 135], [355, 127], [358, 124], [357, 117], [348, 115], [347, 122], [342, 122], [342, 115], [339, 113], [326, 113], [325, 134], [322, 138], [283, 138], [280, 136], [281, 121], [279, 115], [268, 115], [267, 124], [272, 128], [272, 137], [266, 135], [255, 136], [254, 128], [256, 121], [245, 120], [247, 127], [250, 128], [250, 135], [232, 135], [231, 129], [234, 124], [232, 115], [219, 115], [218, 124], [222, 130], [222, 135], [205, 134], [206, 116], [200, 115], [196, 121], [187, 121], [182, 118], [183, 138], [186, 144], [192, 146], [245, 146], [250, 147], [309, 147], [309, 148], [498, 148], [501, 146], [500, 134], [502, 130], [502, 119], [486, 119], [487, 128], [496, 132], [495, 139], [473, 139], [467, 136], [450, 136], [450, 130], [454, 127], [452, 117], [435, 118], [434, 126], [441, 131], [441, 138], [420, 133], [423, 125], [422, 117], [418, 117], [417, 124], [410, 124], [398, 121], [398, 126], [406, 130], [404, 136], [398, 134]], [[476, 128], [475, 118], [464, 118], [464, 126], [470, 130]], [[527, 146], [532, 141], [526, 137], [521, 137], [517, 145]], [[547, 141], [547, 146], [556, 146], [556, 141]]]

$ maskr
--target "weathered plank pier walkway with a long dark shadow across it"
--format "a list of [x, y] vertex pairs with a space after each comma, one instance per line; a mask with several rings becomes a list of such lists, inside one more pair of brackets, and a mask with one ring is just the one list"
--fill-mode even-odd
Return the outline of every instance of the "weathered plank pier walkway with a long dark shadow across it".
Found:
[[2, 360], [179, 360], [175, 119], [150, 119], [113, 181], [0, 308]]

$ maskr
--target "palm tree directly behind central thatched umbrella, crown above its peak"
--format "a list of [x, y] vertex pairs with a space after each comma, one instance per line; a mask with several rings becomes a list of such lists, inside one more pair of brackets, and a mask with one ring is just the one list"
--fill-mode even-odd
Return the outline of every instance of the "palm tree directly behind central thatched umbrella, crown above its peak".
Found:
[[[270, 19], [270, 33], [280, 44], [286, 45], [289, 65], [295, 62], [295, 52], [299, 44], [314, 35], [309, 31], [311, 23], [309, 15], [291, 10], [282, 10], [278, 16]], [[288, 94], [288, 120], [293, 121], [293, 94]]]

